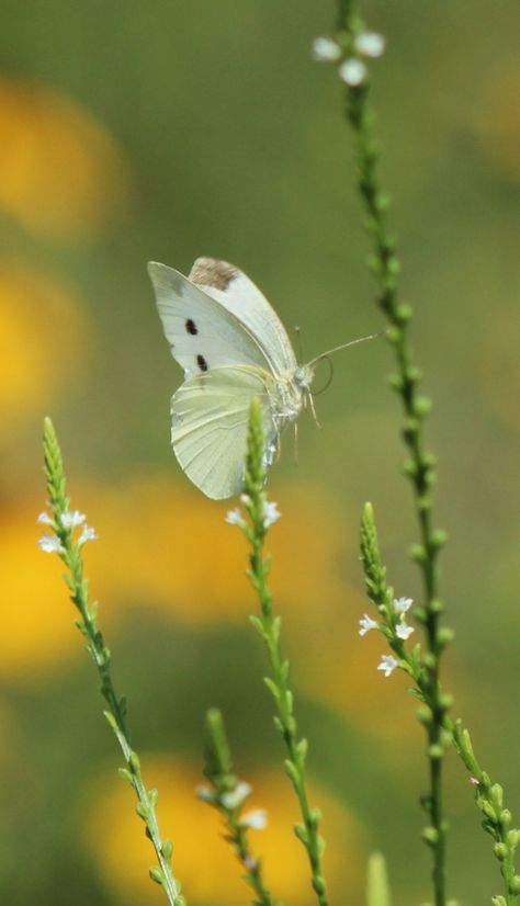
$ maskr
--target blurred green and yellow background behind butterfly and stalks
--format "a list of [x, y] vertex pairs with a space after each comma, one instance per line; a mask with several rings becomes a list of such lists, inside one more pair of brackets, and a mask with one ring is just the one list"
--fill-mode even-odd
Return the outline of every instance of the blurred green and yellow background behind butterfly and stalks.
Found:
[[[518, 7], [364, 7], [388, 41], [372, 65], [384, 181], [436, 404], [428, 434], [457, 636], [445, 687], [518, 812]], [[162, 902], [59, 564], [36, 547], [49, 414], [74, 505], [99, 532], [86, 552], [92, 592], [190, 903], [248, 901], [215, 816], [193, 795], [204, 713], [217, 704], [239, 773], [270, 812], [255, 840], [267, 877], [307, 906], [263, 652], [247, 619], [245, 543], [170, 452], [180, 373], [145, 264], [237, 262], [287, 328], [301, 326], [307, 359], [381, 328], [340, 86], [309, 54], [334, 4], [2, 0], [1, 13], [2, 902]], [[405, 683], [375, 671], [382, 642], [357, 634], [364, 500], [397, 593], [420, 599], [391, 367], [384, 342], [336, 358], [317, 400], [321, 430], [303, 418], [298, 464], [287, 440], [272, 471], [283, 520], [270, 546], [332, 898], [362, 901], [377, 848], [396, 903], [411, 906], [429, 895], [422, 735]], [[487, 903], [500, 890], [497, 863], [454, 758], [446, 789], [451, 893]]]

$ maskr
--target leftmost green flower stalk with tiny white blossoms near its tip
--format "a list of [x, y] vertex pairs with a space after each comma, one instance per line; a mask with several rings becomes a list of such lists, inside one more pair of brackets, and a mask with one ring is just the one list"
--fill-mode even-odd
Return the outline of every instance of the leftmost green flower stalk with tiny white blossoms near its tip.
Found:
[[[157, 820], [156, 805], [157, 790], [148, 790], [143, 779], [140, 762], [131, 745], [126, 727], [126, 704], [123, 698], [117, 698], [112, 681], [111, 653], [97, 623], [97, 603], [89, 603], [89, 584], [83, 575], [82, 547], [89, 539], [83, 529], [82, 536], [77, 539], [75, 529], [81, 524], [84, 517], [70, 513], [70, 501], [66, 492], [66, 477], [61, 451], [50, 419], [44, 421], [44, 462], [47, 478], [47, 494], [53, 518], [46, 518], [47, 524], [54, 531], [53, 536], [46, 536], [42, 544], [44, 550], [55, 551], [65, 563], [68, 575], [64, 576], [70, 592], [70, 600], [79, 611], [76, 625], [87, 641], [87, 650], [95, 664], [101, 680], [101, 693], [109, 707], [104, 716], [112, 727], [121, 746], [126, 768], [120, 770], [121, 777], [126, 780], [137, 796], [136, 812], [146, 825], [146, 835], [150, 839], [157, 856], [157, 865], [149, 870], [152, 881], [160, 884], [170, 906], [185, 906], [181, 895], [181, 885], [173, 875], [171, 840], [162, 839]], [[81, 521], [74, 521], [70, 517], [77, 516]], [[65, 517], [65, 518], [64, 518]], [[70, 524], [71, 523], [71, 524]], [[89, 530], [90, 532], [91, 530]], [[90, 536], [93, 536], [90, 534]]]

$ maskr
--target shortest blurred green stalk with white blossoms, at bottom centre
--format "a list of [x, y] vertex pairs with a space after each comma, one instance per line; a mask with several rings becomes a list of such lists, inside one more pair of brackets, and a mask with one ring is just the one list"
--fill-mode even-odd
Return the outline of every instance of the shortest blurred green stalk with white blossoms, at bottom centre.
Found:
[[207, 712], [206, 731], [204, 775], [212, 789], [201, 788], [199, 796], [221, 813], [226, 828], [225, 839], [231, 845], [246, 871], [246, 884], [257, 897], [255, 906], [281, 906], [279, 901], [273, 899], [265, 885], [261, 860], [252, 854], [249, 846], [249, 828], [255, 826], [255, 823], [251, 824], [251, 813], [242, 814], [242, 806], [252, 790], [248, 783], [239, 781], [235, 773], [222, 714], [216, 709]]

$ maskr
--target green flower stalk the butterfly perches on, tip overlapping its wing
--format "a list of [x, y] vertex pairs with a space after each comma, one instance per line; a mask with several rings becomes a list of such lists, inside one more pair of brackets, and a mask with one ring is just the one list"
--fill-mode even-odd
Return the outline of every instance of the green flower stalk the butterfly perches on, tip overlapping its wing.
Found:
[[302, 824], [294, 826], [296, 837], [304, 845], [310, 865], [313, 890], [316, 893], [319, 906], [328, 906], [327, 885], [321, 868], [321, 854], [325, 847], [319, 836], [321, 815], [317, 808], [308, 803], [305, 762], [307, 756], [307, 740], [298, 738], [296, 717], [294, 715], [293, 693], [290, 688], [290, 664], [282, 656], [281, 648], [281, 618], [274, 614], [269, 573], [271, 557], [264, 554], [264, 541], [269, 525], [279, 518], [275, 503], [269, 503], [265, 495], [265, 469], [262, 464], [264, 441], [262, 432], [261, 411], [257, 400], [251, 404], [251, 415], [248, 432], [248, 452], [246, 458], [244, 506], [249, 516], [249, 523], [240, 520], [237, 513], [229, 514], [244, 529], [251, 546], [249, 554], [248, 576], [258, 594], [260, 616], [250, 616], [251, 623], [262, 637], [268, 650], [271, 676], [264, 678], [265, 686], [271, 692], [276, 709], [274, 724], [280, 731], [287, 752], [285, 771], [296, 794]]

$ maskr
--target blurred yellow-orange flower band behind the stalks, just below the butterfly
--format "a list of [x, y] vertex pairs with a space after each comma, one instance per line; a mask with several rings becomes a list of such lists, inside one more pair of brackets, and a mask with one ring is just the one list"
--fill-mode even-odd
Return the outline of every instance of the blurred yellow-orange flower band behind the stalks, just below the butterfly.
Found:
[[[246, 577], [246, 541], [224, 521], [228, 505], [159, 478], [113, 487], [75, 484], [69, 492], [72, 506], [88, 513], [99, 535], [86, 548], [86, 571], [91, 593], [101, 602], [102, 626], [109, 616], [124, 620], [135, 603], [158, 608], [194, 627], [223, 621], [248, 626], [248, 615], [258, 604]], [[35, 494], [32, 501], [20, 501], [16, 512], [1, 514], [9, 594], [0, 670], [11, 672], [37, 672], [77, 653], [77, 641], [68, 633], [74, 613], [59, 579], [60, 563], [36, 547], [42, 526], [35, 519], [43, 509], [37, 499]], [[43, 505], [43, 483], [39, 499]], [[327, 624], [334, 644], [337, 610], [344, 609], [344, 533], [334, 505], [313, 488], [299, 487], [294, 497], [284, 494], [280, 508], [282, 520], [270, 531], [268, 543], [274, 557], [276, 607], [285, 620], [285, 647], [294, 650], [296, 660], [308, 659], [310, 665]]]

